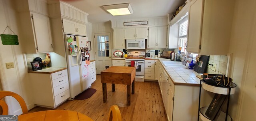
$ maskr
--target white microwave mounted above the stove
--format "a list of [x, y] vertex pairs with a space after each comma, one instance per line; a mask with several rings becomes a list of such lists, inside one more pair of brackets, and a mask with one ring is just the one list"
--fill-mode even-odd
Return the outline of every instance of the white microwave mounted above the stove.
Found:
[[126, 40], [126, 49], [145, 49], [145, 39]]

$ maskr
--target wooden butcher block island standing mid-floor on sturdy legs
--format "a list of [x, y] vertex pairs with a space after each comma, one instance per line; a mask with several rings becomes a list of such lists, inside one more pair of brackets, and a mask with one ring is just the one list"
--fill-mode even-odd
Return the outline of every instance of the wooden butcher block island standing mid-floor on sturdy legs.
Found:
[[106, 83], [112, 83], [112, 92], [115, 91], [115, 84], [125, 84], [127, 85], [127, 101], [126, 105], [131, 103], [131, 85], [132, 94], [134, 94], [134, 79], [136, 75], [135, 67], [126, 66], [111, 66], [104, 71], [100, 72], [102, 92], [103, 92], [103, 102], [107, 102], [107, 85]]

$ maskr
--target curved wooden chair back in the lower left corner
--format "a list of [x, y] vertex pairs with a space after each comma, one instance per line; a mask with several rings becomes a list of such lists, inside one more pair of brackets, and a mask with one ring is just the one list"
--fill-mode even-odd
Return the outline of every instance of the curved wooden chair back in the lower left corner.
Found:
[[8, 115], [8, 105], [6, 104], [6, 102], [2, 100], [2, 98], [6, 96], [12, 96], [20, 103], [22, 114], [28, 113], [28, 108], [26, 106], [26, 103], [20, 95], [11, 91], [0, 91], [0, 106], [2, 107], [2, 110], [3, 110], [2, 115]]

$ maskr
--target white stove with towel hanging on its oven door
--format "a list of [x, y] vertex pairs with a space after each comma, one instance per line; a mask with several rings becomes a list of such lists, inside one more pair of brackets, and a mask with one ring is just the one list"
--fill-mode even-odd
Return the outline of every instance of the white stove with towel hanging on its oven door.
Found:
[[132, 51], [128, 52], [128, 57], [132, 59], [125, 59], [125, 66], [131, 66], [131, 61], [138, 61], [138, 69], [136, 69], [135, 81], [144, 82], [144, 71], [145, 71], [145, 60], [142, 58], [146, 57], [146, 52]]

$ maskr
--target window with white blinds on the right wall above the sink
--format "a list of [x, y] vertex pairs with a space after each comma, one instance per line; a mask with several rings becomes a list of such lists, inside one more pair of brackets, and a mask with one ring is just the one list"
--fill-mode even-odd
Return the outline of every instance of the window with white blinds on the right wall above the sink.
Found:
[[181, 52], [186, 53], [186, 43], [187, 43], [187, 36], [188, 36], [188, 18], [185, 17], [179, 22], [179, 49]]

